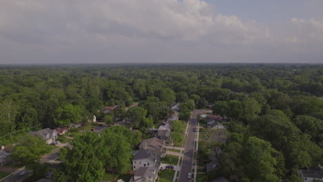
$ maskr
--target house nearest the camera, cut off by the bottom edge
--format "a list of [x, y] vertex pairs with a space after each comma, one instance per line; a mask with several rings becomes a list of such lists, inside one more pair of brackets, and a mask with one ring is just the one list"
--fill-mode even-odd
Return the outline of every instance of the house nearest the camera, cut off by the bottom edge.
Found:
[[154, 182], [157, 179], [157, 173], [158, 168], [156, 167], [141, 167], [129, 182]]

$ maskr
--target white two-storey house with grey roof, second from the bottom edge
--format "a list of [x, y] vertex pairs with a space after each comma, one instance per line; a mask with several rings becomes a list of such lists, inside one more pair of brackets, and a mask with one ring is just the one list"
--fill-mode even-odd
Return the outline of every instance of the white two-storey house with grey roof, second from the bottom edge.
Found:
[[141, 167], [154, 166], [159, 168], [159, 156], [151, 150], [139, 150], [133, 156], [133, 170], [137, 171]]

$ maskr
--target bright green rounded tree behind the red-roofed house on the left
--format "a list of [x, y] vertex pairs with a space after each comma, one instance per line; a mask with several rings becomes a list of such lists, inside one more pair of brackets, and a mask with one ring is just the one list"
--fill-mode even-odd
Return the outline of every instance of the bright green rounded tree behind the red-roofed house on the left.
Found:
[[56, 110], [57, 125], [70, 125], [70, 123], [80, 123], [84, 117], [84, 109], [80, 105], [70, 103], [59, 107]]

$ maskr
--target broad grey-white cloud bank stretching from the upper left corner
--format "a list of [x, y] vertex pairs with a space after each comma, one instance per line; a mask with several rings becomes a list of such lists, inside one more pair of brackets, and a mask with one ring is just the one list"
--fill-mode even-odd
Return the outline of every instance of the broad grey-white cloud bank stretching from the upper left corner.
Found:
[[254, 21], [214, 15], [199, 0], [3, 0], [0, 7], [0, 36], [19, 43], [109, 43], [109, 37], [123, 36], [245, 44], [269, 37]]

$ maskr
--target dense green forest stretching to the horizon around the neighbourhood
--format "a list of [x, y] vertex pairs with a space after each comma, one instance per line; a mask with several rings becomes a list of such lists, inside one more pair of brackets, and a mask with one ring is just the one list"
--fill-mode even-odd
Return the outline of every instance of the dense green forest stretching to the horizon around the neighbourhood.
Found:
[[[144, 132], [170, 116], [172, 103], [183, 103], [186, 121], [192, 103], [214, 103], [230, 132], [222, 175], [295, 181], [297, 169], [323, 163], [322, 97], [323, 65], [1, 66], [0, 144], [93, 115], [111, 124], [127, 117]], [[124, 110], [133, 103], [139, 107]], [[98, 112], [112, 105], [112, 116]]]

